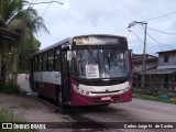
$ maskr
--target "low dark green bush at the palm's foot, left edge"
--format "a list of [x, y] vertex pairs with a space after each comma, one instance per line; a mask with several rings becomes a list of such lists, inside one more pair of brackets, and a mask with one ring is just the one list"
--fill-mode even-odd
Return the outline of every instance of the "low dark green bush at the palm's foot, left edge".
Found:
[[11, 80], [6, 84], [3, 88], [0, 88], [0, 92], [3, 94], [20, 94], [20, 87], [14, 85]]

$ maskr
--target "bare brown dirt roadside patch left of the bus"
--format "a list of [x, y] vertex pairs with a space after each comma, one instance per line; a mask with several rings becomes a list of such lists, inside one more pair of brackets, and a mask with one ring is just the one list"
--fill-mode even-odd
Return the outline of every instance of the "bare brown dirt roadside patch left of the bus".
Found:
[[[38, 99], [28, 96], [0, 94], [0, 110], [11, 109], [15, 117], [26, 122], [70, 122], [66, 114], [61, 114], [54, 108]], [[67, 129], [40, 130], [41, 132], [69, 132]]]

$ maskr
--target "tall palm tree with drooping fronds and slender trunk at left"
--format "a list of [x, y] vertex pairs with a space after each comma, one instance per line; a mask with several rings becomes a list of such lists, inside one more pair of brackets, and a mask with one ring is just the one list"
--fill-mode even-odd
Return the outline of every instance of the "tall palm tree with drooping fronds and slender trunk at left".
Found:
[[[43, 30], [48, 33], [43, 19], [25, 0], [0, 1], [0, 26], [19, 33], [19, 38], [11, 45], [12, 52], [12, 80], [16, 84], [20, 48], [34, 41], [34, 34]], [[25, 9], [26, 8], [26, 9]]]

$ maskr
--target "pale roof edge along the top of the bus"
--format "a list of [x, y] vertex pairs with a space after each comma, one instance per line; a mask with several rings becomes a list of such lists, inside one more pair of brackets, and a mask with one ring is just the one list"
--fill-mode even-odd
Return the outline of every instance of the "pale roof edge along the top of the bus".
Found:
[[[57, 42], [57, 43], [55, 43], [55, 44], [53, 44], [53, 45], [51, 45], [51, 46], [47, 46], [47, 47], [45, 47], [45, 48], [38, 51], [37, 53], [33, 54], [33, 55], [37, 55], [37, 54], [40, 54], [40, 53], [43, 53], [43, 52], [45, 52], [45, 51], [47, 51], [47, 50], [52, 50], [52, 48], [54, 48], [54, 47], [56, 47], [56, 46], [59, 46], [59, 45], [62, 45], [62, 44], [65, 44], [65, 43], [72, 43], [73, 38], [75, 38], [75, 37], [86, 37], [86, 36], [114, 36], [114, 37], [123, 37], [123, 38], [127, 38], [125, 36], [111, 35], [111, 34], [87, 34], [87, 35], [76, 35], [76, 36], [67, 37], [67, 38], [65, 38], [65, 40], [63, 40], [63, 41], [59, 41], [59, 42]], [[33, 56], [33, 55], [32, 55], [32, 56]]]

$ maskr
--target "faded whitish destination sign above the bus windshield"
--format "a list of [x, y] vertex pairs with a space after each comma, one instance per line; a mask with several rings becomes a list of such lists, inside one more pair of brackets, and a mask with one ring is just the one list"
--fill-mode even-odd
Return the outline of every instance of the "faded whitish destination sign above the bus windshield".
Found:
[[84, 36], [74, 38], [76, 45], [106, 45], [106, 44], [120, 44], [118, 37], [103, 37], [103, 36]]

